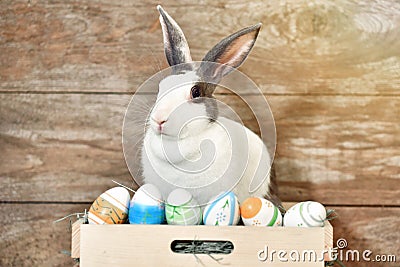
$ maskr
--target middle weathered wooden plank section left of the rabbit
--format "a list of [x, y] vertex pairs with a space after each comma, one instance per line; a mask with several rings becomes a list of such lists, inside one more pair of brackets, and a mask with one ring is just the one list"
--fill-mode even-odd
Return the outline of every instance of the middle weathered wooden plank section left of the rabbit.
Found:
[[88, 201], [111, 179], [131, 179], [121, 147], [128, 96], [0, 98], [1, 200]]

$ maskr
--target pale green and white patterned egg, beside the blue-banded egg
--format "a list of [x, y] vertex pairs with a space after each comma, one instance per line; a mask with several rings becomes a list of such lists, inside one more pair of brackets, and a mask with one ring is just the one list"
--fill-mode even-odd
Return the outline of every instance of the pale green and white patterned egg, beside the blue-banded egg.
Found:
[[168, 224], [196, 225], [201, 223], [201, 208], [192, 194], [185, 189], [172, 191], [165, 206]]

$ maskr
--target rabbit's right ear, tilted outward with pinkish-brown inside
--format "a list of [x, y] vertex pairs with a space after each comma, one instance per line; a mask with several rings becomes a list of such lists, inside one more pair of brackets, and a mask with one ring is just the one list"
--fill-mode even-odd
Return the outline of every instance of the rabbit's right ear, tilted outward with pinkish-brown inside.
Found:
[[[244, 28], [229, 35], [215, 45], [203, 58], [203, 66], [200, 66], [202, 75], [213, 77], [219, 81], [234, 68], [239, 67], [246, 59], [257, 39], [261, 23]], [[223, 64], [207, 64], [206, 62]]]

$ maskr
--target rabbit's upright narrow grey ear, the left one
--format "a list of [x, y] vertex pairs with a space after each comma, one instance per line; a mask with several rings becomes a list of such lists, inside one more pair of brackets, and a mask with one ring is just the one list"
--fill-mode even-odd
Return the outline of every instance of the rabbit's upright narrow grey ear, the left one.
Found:
[[170, 66], [192, 62], [189, 46], [179, 25], [158, 5], [160, 22], [164, 37], [165, 55]]

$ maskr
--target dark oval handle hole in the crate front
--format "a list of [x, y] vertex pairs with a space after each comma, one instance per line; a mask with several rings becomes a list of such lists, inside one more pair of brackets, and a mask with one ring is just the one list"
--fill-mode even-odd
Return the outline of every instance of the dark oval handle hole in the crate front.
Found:
[[174, 240], [171, 250], [180, 254], [231, 254], [231, 241], [225, 240]]

